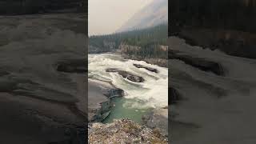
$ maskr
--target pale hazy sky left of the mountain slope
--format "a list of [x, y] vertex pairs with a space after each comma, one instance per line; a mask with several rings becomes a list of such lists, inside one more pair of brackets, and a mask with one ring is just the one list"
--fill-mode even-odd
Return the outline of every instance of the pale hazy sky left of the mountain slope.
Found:
[[89, 35], [111, 34], [153, 0], [89, 0]]

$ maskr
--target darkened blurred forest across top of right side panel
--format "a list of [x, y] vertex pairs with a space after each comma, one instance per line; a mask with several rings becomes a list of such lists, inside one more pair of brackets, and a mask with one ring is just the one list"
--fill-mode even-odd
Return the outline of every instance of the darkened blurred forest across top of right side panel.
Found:
[[171, 0], [170, 32], [200, 26], [256, 32], [256, 0]]

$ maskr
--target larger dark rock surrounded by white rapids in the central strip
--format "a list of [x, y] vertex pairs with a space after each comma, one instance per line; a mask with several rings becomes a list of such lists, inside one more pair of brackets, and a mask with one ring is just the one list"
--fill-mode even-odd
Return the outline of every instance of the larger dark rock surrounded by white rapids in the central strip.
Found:
[[137, 76], [137, 75], [134, 75], [134, 74], [131, 74], [131, 73], [129, 73], [127, 71], [124, 71], [124, 70], [118, 70], [118, 69], [115, 69], [115, 68], [109, 68], [109, 69], [106, 69], [106, 72], [118, 73], [123, 78], [127, 78], [130, 81], [132, 81], [132, 82], [144, 82], [145, 81], [144, 78], [142, 78], [140, 76]]

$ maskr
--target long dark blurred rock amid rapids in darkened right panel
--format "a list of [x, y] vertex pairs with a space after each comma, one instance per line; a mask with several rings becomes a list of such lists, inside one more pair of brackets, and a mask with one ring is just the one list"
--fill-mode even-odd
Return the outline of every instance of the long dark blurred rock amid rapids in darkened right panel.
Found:
[[224, 70], [220, 63], [212, 62], [207, 60], [206, 58], [194, 58], [190, 55], [179, 54], [178, 51], [169, 50], [169, 58], [170, 59], [178, 59], [190, 66], [197, 67], [203, 71], [210, 71], [217, 75], [225, 75]]

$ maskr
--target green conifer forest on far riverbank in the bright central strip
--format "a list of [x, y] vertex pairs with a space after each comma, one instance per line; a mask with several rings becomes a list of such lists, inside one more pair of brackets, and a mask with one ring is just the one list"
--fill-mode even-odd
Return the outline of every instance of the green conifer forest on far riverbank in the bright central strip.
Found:
[[167, 52], [161, 47], [167, 46], [167, 31], [168, 26], [162, 24], [142, 30], [94, 35], [89, 38], [89, 46], [90, 49], [98, 48], [101, 52], [121, 50], [121, 52], [125, 52], [130, 56], [135, 55], [142, 58], [167, 58]]

